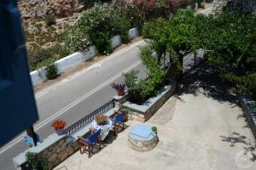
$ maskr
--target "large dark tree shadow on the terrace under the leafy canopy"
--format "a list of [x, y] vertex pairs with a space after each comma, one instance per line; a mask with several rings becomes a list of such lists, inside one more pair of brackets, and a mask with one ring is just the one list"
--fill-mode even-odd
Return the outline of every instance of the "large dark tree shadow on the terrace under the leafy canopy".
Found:
[[218, 102], [229, 102], [230, 105], [236, 106], [236, 94], [232, 93], [231, 88], [229, 83], [222, 81], [217, 71], [203, 63], [183, 76], [177, 94], [204, 94]]

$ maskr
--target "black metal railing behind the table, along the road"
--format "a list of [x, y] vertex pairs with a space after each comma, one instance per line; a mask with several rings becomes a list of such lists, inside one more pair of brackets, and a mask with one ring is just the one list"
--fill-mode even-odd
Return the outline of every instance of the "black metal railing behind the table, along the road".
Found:
[[96, 109], [96, 111], [92, 111], [89, 115], [84, 116], [84, 118], [82, 118], [78, 122], [75, 122], [75, 123], [73, 123], [73, 125], [67, 127], [64, 130], [64, 133], [66, 133], [67, 137], [73, 135], [74, 133], [77, 133], [81, 128], [90, 124], [90, 122], [93, 122], [96, 118], [96, 115], [102, 115], [102, 114], [110, 111], [114, 107], [115, 107], [115, 100], [112, 99], [112, 100], [108, 101], [107, 104], [102, 105], [100, 108]]

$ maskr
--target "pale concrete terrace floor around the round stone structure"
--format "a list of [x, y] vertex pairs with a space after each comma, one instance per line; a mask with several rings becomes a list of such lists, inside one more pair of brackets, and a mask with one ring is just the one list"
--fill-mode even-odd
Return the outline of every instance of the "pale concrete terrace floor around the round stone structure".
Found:
[[[235, 96], [218, 82], [214, 74], [195, 72], [186, 77], [177, 94], [145, 122], [158, 127], [160, 142], [154, 150], [137, 152], [128, 146], [130, 127], [140, 123], [129, 121], [130, 127], [91, 158], [78, 151], [55, 170], [242, 169], [236, 165], [236, 156], [241, 150], [256, 156], [255, 139]], [[247, 169], [256, 169], [255, 159]]]

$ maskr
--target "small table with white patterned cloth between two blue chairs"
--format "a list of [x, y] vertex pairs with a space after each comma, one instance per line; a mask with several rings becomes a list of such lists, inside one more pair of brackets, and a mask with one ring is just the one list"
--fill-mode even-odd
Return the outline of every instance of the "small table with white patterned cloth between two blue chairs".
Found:
[[94, 120], [91, 122], [90, 127], [96, 131], [101, 129], [101, 140], [104, 140], [108, 136], [109, 131], [113, 129], [113, 121], [108, 119], [106, 125], [98, 125], [96, 120]]

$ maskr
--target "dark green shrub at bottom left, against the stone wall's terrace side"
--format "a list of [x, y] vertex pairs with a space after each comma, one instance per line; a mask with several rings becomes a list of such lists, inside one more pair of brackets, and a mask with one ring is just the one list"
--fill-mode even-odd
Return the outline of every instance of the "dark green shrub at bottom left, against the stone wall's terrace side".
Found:
[[27, 152], [26, 160], [29, 166], [37, 170], [49, 170], [49, 162], [37, 153]]

